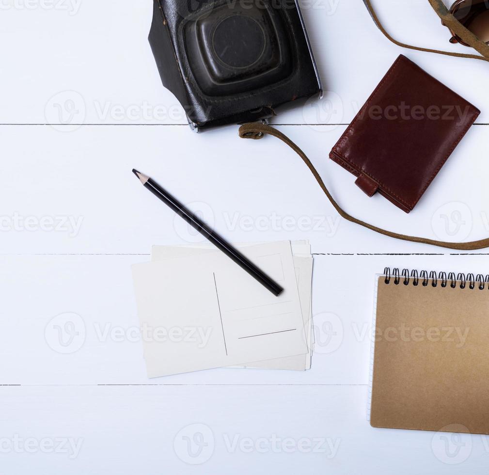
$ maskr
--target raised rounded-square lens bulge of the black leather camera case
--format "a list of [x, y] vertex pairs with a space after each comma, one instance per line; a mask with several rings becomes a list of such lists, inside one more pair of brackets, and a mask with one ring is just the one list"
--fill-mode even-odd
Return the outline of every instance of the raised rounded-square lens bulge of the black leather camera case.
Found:
[[268, 0], [255, 0], [252, 8], [240, 1], [220, 3], [211, 14], [185, 22], [187, 57], [200, 89], [225, 96], [284, 80], [292, 62], [280, 11]]

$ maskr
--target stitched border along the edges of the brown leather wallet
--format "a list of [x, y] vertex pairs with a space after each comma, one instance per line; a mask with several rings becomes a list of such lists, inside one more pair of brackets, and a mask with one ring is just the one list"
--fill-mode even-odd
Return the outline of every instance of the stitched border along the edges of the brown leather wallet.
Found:
[[[392, 196], [394, 196], [397, 200], [400, 201], [400, 203], [404, 204], [405, 206], [407, 206], [408, 208], [412, 209], [414, 208], [414, 206], [416, 205], [416, 203], [418, 203], [418, 201], [420, 200], [420, 198], [422, 197], [423, 193], [426, 191], [426, 189], [428, 188], [428, 186], [431, 184], [431, 182], [434, 180], [435, 176], [438, 174], [438, 172], [441, 170], [441, 168], [443, 167], [443, 165], [445, 165], [445, 162], [446, 160], [448, 159], [448, 157], [453, 153], [453, 151], [455, 150], [455, 147], [458, 145], [458, 143], [460, 142], [460, 140], [462, 140], [463, 136], [465, 134], [467, 134], [467, 131], [468, 129], [470, 128], [470, 126], [473, 124], [473, 122], [475, 121], [475, 119], [477, 118], [477, 116], [479, 115], [479, 111], [477, 111], [476, 113], [474, 113], [473, 117], [472, 117], [472, 120], [468, 123], [468, 125], [466, 126], [466, 128], [464, 129], [464, 131], [462, 132], [462, 134], [458, 137], [458, 139], [453, 143], [453, 146], [450, 150], [450, 152], [448, 153], [448, 155], [445, 157], [445, 159], [441, 162], [440, 166], [438, 167], [438, 169], [433, 173], [433, 175], [431, 176], [431, 178], [428, 180], [428, 182], [426, 183], [425, 187], [422, 189], [421, 193], [418, 195], [418, 197], [415, 199], [415, 201], [413, 203], [407, 203], [406, 201], [404, 201], [400, 196], [398, 196], [394, 191], [392, 191], [387, 185], [385, 185], [384, 183], [382, 183], [381, 181], [378, 181], [376, 180], [372, 175], [370, 175], [369, 173], [367, 173], [365, 170], [361, 170], [354, 162], [352, 162], [351, 160], [349, 160], [348, 158], [346, 158], [341, 152], [339, 152], [338, 150], [338, 147], [340, 147], [341, 145], [343, 145], [343, 143], [348, 139], [347, 137], [347, 133], [348, 131], [356, 124], [356, 122], [359, 120], [360, 118], [360, 114], [361, 112], [366, 109], [370, 103], [374, 100], [374, 98], [377, 96], [378, 94], [378, 90], [384, 85], [385, 81], [389, 78], [389, 76], [395, 71], [395, 69], [397, 68], [400, 60], [402, 59], [402, 56], [400, 56], [396, 62], [392, 65], [392, 67], [390, 68], [390, 70], [387, 72], [387, 74], [385, 75], [384, 79], [382, 79], [382, 81], [380, 81], [380, 83], [378, 84], [377, 88], [374, 90], [374, 92], [372, 92], [371, 96], [369, 97], [369, 99], [367, 100], [367, 102], [365, 103], [365, 105], [361, 108], [360, 112], [356, 115], [355, 119], [353, 120], [353, 122], [350, 124], [350, 126], [346, 129], [346, 131], [343, 133], [343, 136], [340, 138], [340, 140], [338, 141], [338, 143], [333, 147], [333, 152], [336, 153], [337, 155], [339, 155], [342, 159], [344, 159], [346, 162], [348, 162], [351, 167], [353, 167], [358, 173], [363, 173], [365, 174], [366, 176], [370, 177], [372, 180], [374, 181], [377, 181], [378, 184], [380, 186], [382, 186], [382, 188], [384, 188], [385, 191], [388, 191]], [[440, 83], [442, 84], [445, 88], [446, 86], [443, 84], [443, 83]], [[449, 89], [449, 88], [447, 88]], [[450, 90], [451, 91], [451, 90]], [[456, 94], [455, 92], [451, 91], [452, 93]], [[457, 94], [456, 94], [457, 95]], [[462, 98], [463, 99], [463, 98]], [[465, 102], [467, 102], [465, 99], [463, 99]], [[474, 107], [472, 104], [469, 104], [471, 107]]]

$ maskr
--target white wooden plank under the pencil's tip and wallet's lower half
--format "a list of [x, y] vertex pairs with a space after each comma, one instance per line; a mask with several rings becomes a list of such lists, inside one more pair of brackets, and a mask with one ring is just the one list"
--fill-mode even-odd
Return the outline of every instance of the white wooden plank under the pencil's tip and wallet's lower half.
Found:
[[[368, 198], [328, 158], [344, 126], [281, 127], [333, 196], [375, 225], [446, 241], [489, 235], [489, 127], [474, 126], [409, 215]], [[234, 242], [309, 239], [314, 252], [444, 252], [377, 235], [338, 217], [302, 160], [273, 137], [184, 127], [2, 127], [1, 253], [148, 253], [201, 241], [135, 179], [152, 175]], [[56, 230], [58, 229], [58, 230]], [[449, 252], [449, 251], [446, 251]]]

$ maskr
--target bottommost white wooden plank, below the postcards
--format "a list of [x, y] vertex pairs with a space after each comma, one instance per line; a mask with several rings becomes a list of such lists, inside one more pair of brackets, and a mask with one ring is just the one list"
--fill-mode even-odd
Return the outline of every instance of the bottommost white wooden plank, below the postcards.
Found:
[[[2, 471], [9, 474], [33, 466], [52, 475], [228, 474], [243, 467], [264, 475], [393, 467], [399, 474], [461, 474], [484, 473], [488, 455], [480, 435], [372, 429], [365, 386], [40, 386], [3, 387], [1, 394]], [[67, 441], [66, 452], [46, 449], [57, 439]]]

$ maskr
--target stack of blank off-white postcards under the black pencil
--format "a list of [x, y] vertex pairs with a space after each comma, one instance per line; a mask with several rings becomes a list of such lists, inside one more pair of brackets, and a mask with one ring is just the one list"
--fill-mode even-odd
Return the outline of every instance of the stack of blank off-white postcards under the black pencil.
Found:
[[311, 368], [309, 242], [238, 247], [285, 289], [280, 296], [210, 245], [154, 246], [151, 262], [133, 266], [150, 378], [228, 366]]

